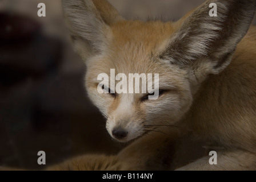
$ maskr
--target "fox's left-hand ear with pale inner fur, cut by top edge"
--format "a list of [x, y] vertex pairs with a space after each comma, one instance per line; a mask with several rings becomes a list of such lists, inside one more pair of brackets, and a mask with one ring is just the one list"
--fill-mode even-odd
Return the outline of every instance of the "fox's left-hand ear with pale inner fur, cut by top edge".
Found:
[[101, 52], [111, 38], [110, 25], [122, 20], [107, 0], [62, 0], [75, 51], [83, 58]]

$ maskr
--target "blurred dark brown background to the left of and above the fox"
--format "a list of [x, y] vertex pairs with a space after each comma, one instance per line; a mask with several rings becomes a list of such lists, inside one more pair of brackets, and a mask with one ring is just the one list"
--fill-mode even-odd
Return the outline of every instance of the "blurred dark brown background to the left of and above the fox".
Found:
[[[37, 16], [45, 3], [46, 17]], [[181, 18], [203, 0], [110, 0], [123, 16]], [[60, 0], [0, 0], [0, 166], [42, 169], [82, 154], [116, 154], [105, 119], [86, 95], [85, 65], [71, 46]]]

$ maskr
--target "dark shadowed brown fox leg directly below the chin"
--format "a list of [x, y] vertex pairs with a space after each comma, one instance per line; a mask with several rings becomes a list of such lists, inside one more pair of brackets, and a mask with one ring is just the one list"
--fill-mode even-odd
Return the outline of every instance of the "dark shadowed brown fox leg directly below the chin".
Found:
[[[142, 137], [118, 154], [133, 170], [164, 170], [169, 168], [174, 146], [171, 136], [155, 134]], [[167, 155], [166, 155], [167, 154]]]

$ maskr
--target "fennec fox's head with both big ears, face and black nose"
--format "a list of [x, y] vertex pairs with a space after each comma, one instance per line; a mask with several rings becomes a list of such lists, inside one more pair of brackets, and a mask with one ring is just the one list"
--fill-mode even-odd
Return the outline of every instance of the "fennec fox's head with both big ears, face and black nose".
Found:
[[[210, 3], [217, 16], [210, 16]], [[127, 142], [159, 126], [175, 125], [190, 109], [193, 96], [210, 74], [229, 65], [254, 16], [254, 0], [211, 0], [177, 22], [127, 20], [105, 0], [63, 0], [75, 51], [85, 61], [85, 86], [106, 117], [106, 129]], [[159, 74], [159, 96], [113, 93], [101, 73]], [[114, 81], [117, 84], [117, 81]]]

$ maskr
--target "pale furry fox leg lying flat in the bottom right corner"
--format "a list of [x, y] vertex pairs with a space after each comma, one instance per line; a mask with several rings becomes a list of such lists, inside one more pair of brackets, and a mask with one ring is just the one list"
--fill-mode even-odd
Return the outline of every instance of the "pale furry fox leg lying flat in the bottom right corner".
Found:
[[241, 171], [256, 170], [256, 154], [248, 151], [235, 150], [217, 152], [217, 164], [209, 163], [210, 156], [205, 156], [184, 167], [176, 169], [177, 171]]

